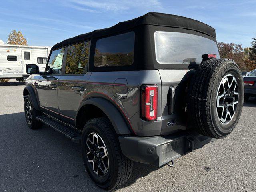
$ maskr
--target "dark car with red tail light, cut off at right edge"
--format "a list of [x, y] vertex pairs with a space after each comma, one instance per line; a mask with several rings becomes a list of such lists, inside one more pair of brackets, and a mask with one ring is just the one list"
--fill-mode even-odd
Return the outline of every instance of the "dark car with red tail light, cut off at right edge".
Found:
[[256, 97], [256, 69], [248, 76], [244, 76], [244, 100], [248, 101], [250, 97]]

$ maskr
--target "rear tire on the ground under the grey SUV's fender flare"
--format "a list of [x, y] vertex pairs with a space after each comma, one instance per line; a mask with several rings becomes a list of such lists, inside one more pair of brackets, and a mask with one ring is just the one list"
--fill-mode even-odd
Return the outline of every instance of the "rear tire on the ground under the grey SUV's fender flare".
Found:
[[[97, 175], [93, 171], [92, 162], [89, 162], [91, 158], [87, 157], [88, 152], [90, 152], [88, 156], [90, 154], [95, 154], [95, 151], [92, 152], [92, 149], [89, 150], [89, 147], [86, 144], [88, 136], [90, 138], [91, 135], [94, 133], [100, 136], [99, 139], [102, 139], [103, 143], [101, 142], [100, 145], [106, 146], [106, 151], [108, 154], [108, 169], [105, 174], [102, 174], [102, 172], [100, 171], [97, 173]], [[89, 145], [91, 145], [91, 142], [89, 143]], [[118, 142], [118, 136], [114, 132], [114, 128], [108, 118], [94, 118], [86, 123], [82, 132], [81, 146], [86, 170], [90, 178], [101, 188], [104, 188], [106, 190], [117, 188], [118, 186], [124, 184], [130, 178], [133, 162], [122, 154]], [[90, 148], [92, 147], [90, 146]], [[94, 158], [94, 160], [96, 158], [96, 156], [91, 157]], [[104, 165], [106, 166], [106, 157], [104, 161]], [[95, 166], [97, 166], [97, 164]]]

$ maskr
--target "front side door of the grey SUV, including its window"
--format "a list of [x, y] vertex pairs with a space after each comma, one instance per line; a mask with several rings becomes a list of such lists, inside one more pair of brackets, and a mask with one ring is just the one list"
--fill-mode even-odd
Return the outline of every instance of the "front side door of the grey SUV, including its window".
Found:
[[59, 118], [58, 81], [62, 71], [64, 48], [51, 53], [45, 74], [38, 81], [38, 100], [43, 112]]

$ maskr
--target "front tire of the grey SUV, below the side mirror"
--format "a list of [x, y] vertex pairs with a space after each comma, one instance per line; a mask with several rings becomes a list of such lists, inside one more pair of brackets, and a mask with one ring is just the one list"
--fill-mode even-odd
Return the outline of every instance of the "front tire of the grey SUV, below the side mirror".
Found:
[[[31, 106], [31, 112], [30, 112], [30, 117], [28, 118], [28, 105]], [[31, 98], [29, 95], [26, 96], [25, 102], [24, 102], [24, 111], [25, 111], [25, 118], [27, 125], [30, 129], [38, 129], [43, 126], [43, 123], [38, 121], [36, 119], [37, 116], [41, 115], [41, 112], [36, 110], [33, 106], [33, 103], [31, 101]]]

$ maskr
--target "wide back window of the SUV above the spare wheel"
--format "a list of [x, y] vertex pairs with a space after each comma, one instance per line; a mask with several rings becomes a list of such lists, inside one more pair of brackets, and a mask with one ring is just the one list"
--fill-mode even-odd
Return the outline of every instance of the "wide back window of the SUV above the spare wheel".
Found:
[[216, 42], [205, 37], [157, 31], [154, 34], [156, 60], [160, 64], [200, 64], [203, 54], [216, 54], [220, 58]]

